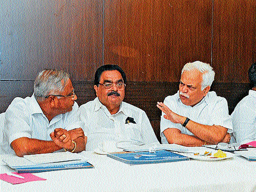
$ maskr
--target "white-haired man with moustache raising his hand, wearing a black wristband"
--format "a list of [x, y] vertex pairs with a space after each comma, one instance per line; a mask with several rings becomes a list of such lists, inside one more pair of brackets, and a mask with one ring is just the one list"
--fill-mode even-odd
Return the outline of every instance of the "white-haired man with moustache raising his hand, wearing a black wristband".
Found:
[[162, 143], [202, 146], [229, 142], [232, 122], [227, 101], [209, 92], [215, 72], [201, 61], [183, 67], [179, 91], [158, 102]]

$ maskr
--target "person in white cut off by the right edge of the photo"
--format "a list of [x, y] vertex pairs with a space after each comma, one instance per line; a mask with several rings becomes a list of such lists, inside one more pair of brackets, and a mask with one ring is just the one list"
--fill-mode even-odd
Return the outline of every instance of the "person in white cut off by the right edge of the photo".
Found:
[[248, 76], [252, 89], [237, 104], [231, 115], [233, 135], [240, 144], [256, 141], [256, 62], [251, 65]]

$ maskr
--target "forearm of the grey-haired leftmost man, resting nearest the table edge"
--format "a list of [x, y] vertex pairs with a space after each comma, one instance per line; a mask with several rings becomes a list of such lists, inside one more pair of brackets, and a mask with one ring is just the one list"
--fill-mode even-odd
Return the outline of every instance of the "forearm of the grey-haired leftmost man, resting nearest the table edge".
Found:
[[53, 141], [31, 139], [28, 137], [15, 139], [11, 146], [19, 157], [31, 154], [52, 153], [61, 149]]

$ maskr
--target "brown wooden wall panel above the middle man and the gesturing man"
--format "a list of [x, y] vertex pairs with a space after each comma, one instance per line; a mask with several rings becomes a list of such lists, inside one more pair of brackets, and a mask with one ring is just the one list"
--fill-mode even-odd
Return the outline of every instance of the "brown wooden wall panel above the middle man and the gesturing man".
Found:
[[211, 10], [211, 0], [106, 1], [104, 62], [131, 81], [178, 81], [186, 62], [210, 62]]

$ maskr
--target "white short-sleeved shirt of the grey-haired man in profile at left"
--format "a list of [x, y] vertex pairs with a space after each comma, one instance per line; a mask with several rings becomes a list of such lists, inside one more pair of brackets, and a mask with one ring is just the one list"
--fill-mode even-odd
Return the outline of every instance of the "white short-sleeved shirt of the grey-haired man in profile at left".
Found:
[[34, 95], [13, 99], [5, 113], [4, 150], [12, 153], [10, 144], [20, 137], [52, 140], [50, 133], [56, 128], [72, 130], [80, 127], [77, 121], [78, 105], [75, 102], [71, 112], [55, 116], [50, 122], [42, 112]]

